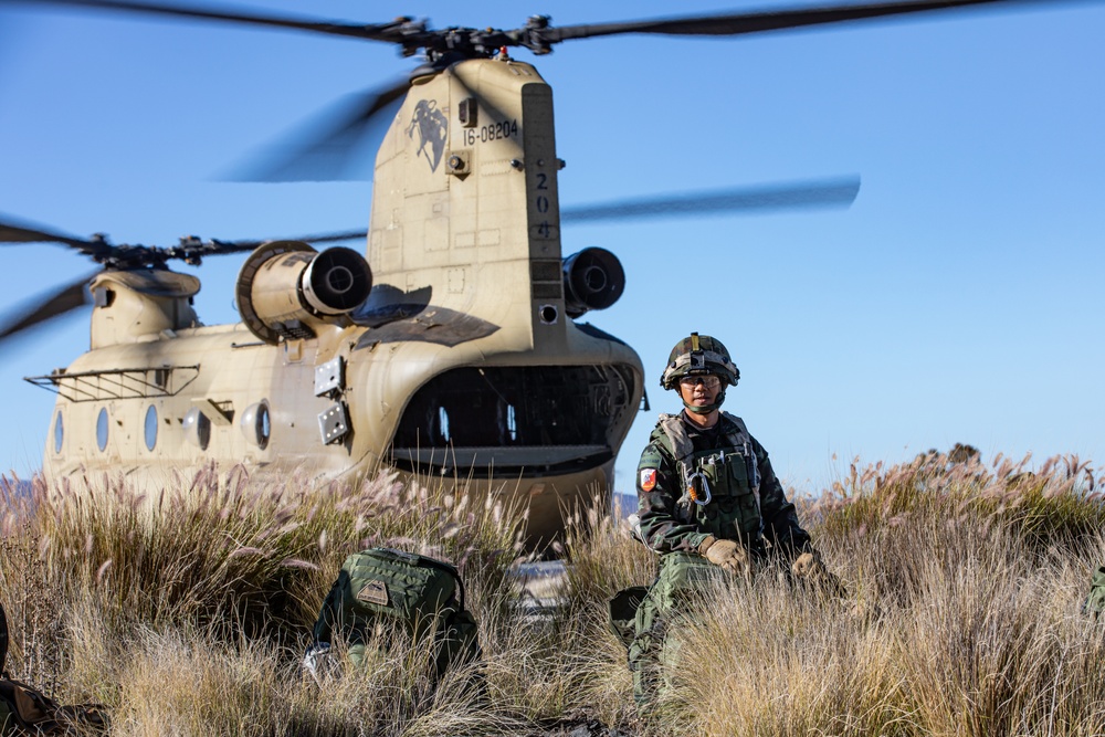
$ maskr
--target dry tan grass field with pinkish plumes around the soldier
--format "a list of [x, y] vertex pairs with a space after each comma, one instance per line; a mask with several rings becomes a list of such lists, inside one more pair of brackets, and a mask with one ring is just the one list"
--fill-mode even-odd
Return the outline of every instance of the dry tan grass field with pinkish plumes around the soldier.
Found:
[[[619, 518], [578, 520], [561, 606], [534, 617], [512, 568], [524, 513], [494, 498], [387, 474], [348, 489], [210, 470], [156, 499], [35, 480], [0, 520], [9, 671], [107, 705], [116, 735], [1102, 735], [1105, 622], [1081, 612], [1105, 561], [1097, 480], [1073, 457], [1022, 466], [930, 455], [801, 501], [848, 597], [770, 566], [704, 592], [645, 715], [606, 600], [655, 561]], [[373, 545], [459, 566], [480, 665], [433, 687], [408, 649], [301, 674], [341, 561]]]

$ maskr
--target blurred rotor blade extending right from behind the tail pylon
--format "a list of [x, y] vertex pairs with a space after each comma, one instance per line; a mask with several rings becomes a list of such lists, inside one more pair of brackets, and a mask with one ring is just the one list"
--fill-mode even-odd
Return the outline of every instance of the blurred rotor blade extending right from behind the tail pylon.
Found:
[[737, 189], [685, 192], [560, 209], [560, 222], [684, 218], [725, 212], [770, 212], [801, 208], [846, 208], [860, 192], [859, 177]]

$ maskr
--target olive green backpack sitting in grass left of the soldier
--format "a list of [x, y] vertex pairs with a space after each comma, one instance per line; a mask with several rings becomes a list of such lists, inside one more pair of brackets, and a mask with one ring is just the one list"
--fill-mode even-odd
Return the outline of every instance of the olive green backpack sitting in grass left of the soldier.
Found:
[[[480, 660], [476, 621], [464, 608], [456, 569], [440, 560], [390, 548], [346, 558], [315, 622], [316, 644], [340, 636], [360, 665], [366, 647], [387, 646], [381, 635], [425, 643], [432, 638], [433, 672]], [[375, 643], [375, 645], [372, 644]]]

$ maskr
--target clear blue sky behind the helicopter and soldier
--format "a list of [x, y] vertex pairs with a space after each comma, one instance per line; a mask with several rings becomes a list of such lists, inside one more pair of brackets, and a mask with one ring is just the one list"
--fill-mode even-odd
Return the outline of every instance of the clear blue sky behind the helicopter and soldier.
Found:
[[[862, 177], [849, 210], [565, 229], [566, 254], [600, 245], [622, 260], [624, 296], [585, 319], [648, 370], [652, 411], [623, 446], [619, 489], [655, 412], [677, 408], [659, 373], [691, 330], [730, 348], [743, 379], [726, 409], [802, 491], [854, 455], [894, 462], [955, 442], [988, 459], [1105, 459], [1105, 3], [1044, 4], [516, 54], [554, 86], [564, 204]], [[537, 12], [572, 24], [771, 6], [309, 3], [323, 18], [498, 28]], [[410, 67], [382, 44], [0, 7], [0, 212], [146, 244], [365, 227], [368, 181], [213, 176]], [[206, 323], [236, 319], [240, 263], [198, 272]], [[8, 246], [0, 308], [90, 271], [57, 246]], [[53, 394], [22, 377], [86, 347], [85, 316], [4, 346], [0, 466], [40, 462]]]

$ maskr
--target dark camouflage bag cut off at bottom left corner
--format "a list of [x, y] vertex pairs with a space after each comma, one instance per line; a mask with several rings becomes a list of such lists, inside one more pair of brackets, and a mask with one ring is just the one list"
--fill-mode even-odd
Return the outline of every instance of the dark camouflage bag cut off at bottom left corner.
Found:
[[8, 677], [8, 618], [0, 604], [0, 735], [2, 737], [51, 737], [106, 731], [104, 707], [94, 704], [59, 706], [25, 683]]

